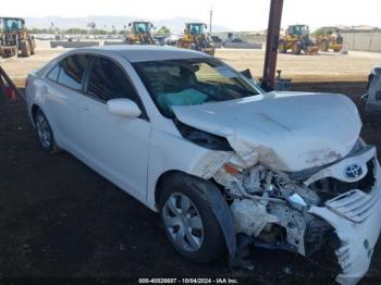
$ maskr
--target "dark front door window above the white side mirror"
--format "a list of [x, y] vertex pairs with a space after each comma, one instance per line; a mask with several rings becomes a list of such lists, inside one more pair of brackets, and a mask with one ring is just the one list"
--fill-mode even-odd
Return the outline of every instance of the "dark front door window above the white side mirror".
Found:
[[113, 61], [103, 58], [94, 60], [87, 92], [103, 101], [128, 98], [136, 102], [135, 91], [123, 70]]

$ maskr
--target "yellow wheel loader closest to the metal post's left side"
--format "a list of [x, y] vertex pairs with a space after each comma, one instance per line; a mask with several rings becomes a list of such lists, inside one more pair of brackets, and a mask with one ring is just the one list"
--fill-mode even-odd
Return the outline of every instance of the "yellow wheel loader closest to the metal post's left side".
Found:
[[194, 49], [214, 55], [214, 45], [206, 35], [207, 25], [204, 23], [186, 23], [184, 35], [177, 40], [177, 47]]

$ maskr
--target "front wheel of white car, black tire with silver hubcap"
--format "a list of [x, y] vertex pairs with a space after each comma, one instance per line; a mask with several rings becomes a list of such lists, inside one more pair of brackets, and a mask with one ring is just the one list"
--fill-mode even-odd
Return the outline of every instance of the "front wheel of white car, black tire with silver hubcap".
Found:
[[225, 251], [225, 241], [208, 201], [195, 187], [199, 183], [185, 174], [170, 176], [162, 184], [159, 208], [174, 249], [190, 261], [207, 263]]

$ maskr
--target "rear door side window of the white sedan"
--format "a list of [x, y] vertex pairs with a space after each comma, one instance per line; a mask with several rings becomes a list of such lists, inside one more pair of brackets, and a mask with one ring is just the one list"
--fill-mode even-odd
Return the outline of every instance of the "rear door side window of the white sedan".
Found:
[[76, 54], [61, 61], [58, 82], [74, 90], [81, 90], [82, 79], [88, 63], [88, 55]]

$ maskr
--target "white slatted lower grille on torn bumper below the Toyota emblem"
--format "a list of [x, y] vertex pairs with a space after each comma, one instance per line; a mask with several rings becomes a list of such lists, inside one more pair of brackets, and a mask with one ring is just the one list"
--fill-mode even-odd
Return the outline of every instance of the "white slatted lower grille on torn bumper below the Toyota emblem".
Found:
[[379, 202], [380, 197], [380, 193], [372, 195], [356, 189], [327, 201], [325, 206], [352, 222], [361, 223], [371, 214], [372, 208]]

